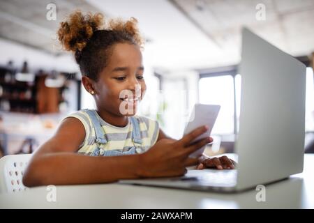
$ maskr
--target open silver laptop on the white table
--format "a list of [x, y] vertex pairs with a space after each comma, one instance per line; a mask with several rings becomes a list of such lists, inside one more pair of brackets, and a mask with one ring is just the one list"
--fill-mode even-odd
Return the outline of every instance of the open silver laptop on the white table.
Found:
[[189, 169], [185, 176], [120, 183], [237, 192], [303, 171], [306, 66], [242, 29], [237, 169]]

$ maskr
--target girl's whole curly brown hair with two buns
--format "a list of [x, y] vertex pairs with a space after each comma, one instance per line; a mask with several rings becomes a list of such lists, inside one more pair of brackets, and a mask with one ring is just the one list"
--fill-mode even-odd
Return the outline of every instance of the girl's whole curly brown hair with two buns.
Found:
[[144, 46], [144, 41], [133, 17], [124, 22], [110, 20], [104, 26], [101, 13], [84, 15], [80, 10], [71, 13], [57, 31], [63, 49], [73, 52], [82, 75], [98, 81], [100, 72], [107, 66], [110, 49], [117, 43]]

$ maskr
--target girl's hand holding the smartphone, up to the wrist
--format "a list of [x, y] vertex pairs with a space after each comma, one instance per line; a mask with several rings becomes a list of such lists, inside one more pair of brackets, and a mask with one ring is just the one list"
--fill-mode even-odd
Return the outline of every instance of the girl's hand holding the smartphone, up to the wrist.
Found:
[[140, 177], [181, 176], [186, 173], [186, 167], [199, 163], [199, 157], [188, 155], [212, 141], [211, 137], [191, 141], [207, 131], [202, 126], [186, 134], [180, 140], [160, 139], [149, 151], [140, 154]]

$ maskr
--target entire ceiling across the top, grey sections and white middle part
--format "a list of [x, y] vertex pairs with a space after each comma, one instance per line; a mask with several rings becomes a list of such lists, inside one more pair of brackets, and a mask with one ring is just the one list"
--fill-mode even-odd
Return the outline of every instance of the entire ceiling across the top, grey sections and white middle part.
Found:
[[[48, 3], [57, 6], [55, 21], [45, 17]], [[257, 3], [265, 6], [263, 21], [255, 17]], [[108, 17], [136, 17], [149, 40], [144, 59], [154, 68], [238, 63], [241, 26], [294, 56], [314, 52], [314, 0], [0, 0], [0, 38], [64, 56], [55, 33], [59, 22], [77, 8]]]

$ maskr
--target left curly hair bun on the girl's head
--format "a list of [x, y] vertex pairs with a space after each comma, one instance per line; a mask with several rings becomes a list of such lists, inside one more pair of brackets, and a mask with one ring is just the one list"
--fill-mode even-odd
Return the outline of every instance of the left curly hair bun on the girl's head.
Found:
[[[57, 32], [58, 39], [64, 49], [77, 54], [87, 45], [94, 31], [103, 26], [103, 14], [83, 15], [80, 10], [71, 13], [66, 22], [61, 22]], [[76, 56], [75, 56], [76, 58]]]

